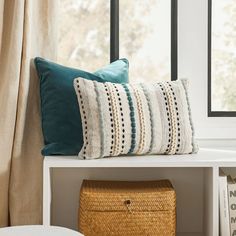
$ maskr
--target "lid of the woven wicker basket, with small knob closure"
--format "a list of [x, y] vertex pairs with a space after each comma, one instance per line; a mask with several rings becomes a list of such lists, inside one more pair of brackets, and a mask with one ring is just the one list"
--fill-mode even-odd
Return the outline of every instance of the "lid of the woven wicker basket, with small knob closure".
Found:
[[84, 180], [80, 204], [89, 211], [164, 211], [175, 209], [176, 194], [169, 180]]

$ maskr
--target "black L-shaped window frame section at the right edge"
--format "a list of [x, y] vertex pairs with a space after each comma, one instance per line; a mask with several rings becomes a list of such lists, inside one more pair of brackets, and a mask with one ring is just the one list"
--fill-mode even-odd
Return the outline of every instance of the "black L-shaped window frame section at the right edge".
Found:
[[208, 0], [208, 117], [236, 117], [236, 111], [212, 111], [212, 0]]

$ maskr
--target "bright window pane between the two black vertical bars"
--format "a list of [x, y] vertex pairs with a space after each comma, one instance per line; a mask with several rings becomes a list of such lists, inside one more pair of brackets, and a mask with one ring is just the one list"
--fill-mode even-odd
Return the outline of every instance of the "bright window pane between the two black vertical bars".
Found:
[[171, 0], [120, 0], [120, 57], [130, 81], [171, 79]]

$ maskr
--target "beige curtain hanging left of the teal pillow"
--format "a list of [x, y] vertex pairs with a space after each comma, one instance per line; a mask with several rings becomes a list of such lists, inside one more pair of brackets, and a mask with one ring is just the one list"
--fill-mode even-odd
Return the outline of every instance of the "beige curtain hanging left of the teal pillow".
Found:
[[42, 223], [35, 56], [55, 59], [57, 0], [0, 0], [0, 226]]

